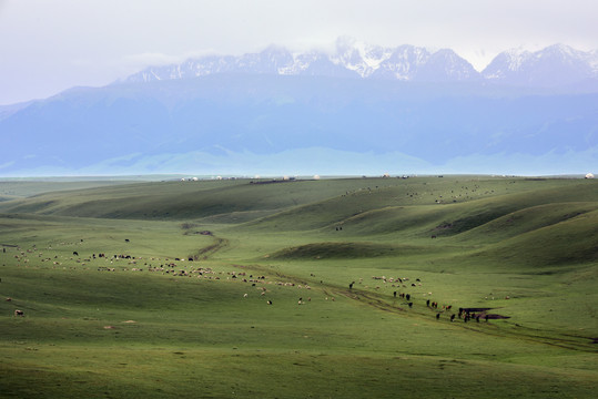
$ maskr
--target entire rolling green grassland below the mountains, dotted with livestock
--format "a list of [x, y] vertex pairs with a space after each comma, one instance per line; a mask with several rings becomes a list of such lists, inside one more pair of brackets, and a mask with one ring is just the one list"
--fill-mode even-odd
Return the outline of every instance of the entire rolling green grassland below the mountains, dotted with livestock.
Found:
[[597, 183], [0, 182], [0, 397], [594, 398]]

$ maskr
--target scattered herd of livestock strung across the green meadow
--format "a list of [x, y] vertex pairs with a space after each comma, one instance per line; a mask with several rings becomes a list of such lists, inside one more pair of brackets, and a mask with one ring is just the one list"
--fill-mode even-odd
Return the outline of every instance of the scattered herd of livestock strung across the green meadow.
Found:
[[[83, 239], [81, 239], [83, 242]], [[125, 242], [129, 242], [129, 239], [125, 239]], [[61, 245], [69, 245], [68, 243], [61, 243]], [[72, 245], [72, 244], [71, 244]], [[55, 245], [54, 245], [55, 246]], [[7, 248], [2, 248], [2, 254], [7, 254]], [[11, 253], [12, 248], [9, 248], [9, 253]], [[20, 247], [14, 246], [13, 250], [17, 252], [16, 255], [9, 255], [13, 257], [17, 260], [18, 266], [23, 267], [41, 267], [41, 264], [51, 262], [52, 267], [59, 268], [62, 266], [62, 269], [67, 269], [67, 266], [64, 264], [69, 265], [69, 269], [85, 269], [90, 270], [93, 269], [98, 272], [148, 272], [148, 273], [161, 273], [163, 275], [169, 275], [172, 277], [197, 277], [203, 279], [211, 279], [211, 280], [221, 280], [226, 279], [230, 282], [240, 282], [243, 284], [251, 284], [252, 287], [255, 287], [259, 290], [259, 294], [261, 297], [264, 297], [266, 295], [273, 296], [273, 293], [271, 289], [268, 289], [270, 286], [280, 286], [280, 287], [295, 287], [300, 289], [312, 289], [308, 283], [306, 282], [294, 282], [294, 280], [287, 280], [282, 282], [278, 279], [272, 279], [270, 277], [266, 277], [265, 275], [260, 276], [253, 276], [250, 274], [247, 276], [247, 273], [243, 270], [242, 266], [236, 266], [237, 268], [241, 268], [241, 270], [231, 270], [231, 272], [216, 272], [210, 267], [202, 267], [200, 266], [199, 262], [193, 262], [193, 256], [183, 256], [183, 257], [173, 257], [173, 258], [160, 258], [160, 257], [141, 257], [141, 256], [132, 256], [130, 254], [113, 254], [112, 256], [107, 256], [105, 253], [99, 253], [99, 254], [91, 254], [89, 257], [81, 257], [79, 255], [79, 250], [72, 250], [72, 257], [68, 256], [60, 256], [60, 254], [63, 254], [62, 252], [57, 252], [52, 256], [44, 256], [44, 253], [40, 249], [38, 249], [36, 246], [33, 246], [30, 249], [22, 250]], [[52, 246], [48, 246], [44, 250], [53, 250]], [[34, 260], [33, 260], [34, 259]], [[33, 263], [39, 262], [37, 266], [33, 266]], [[102, 264], [98, 264], [98, 262], [102, 262]], [[311, 277], [315, 279], [315, 274], [311, 274]], [[425, 305], [426, 307], [422, 307], [420, 309], [429, 309], [434, 317], [439, 320], [442, 318], [443, 314], [448, 315], [448, 319], [450, 321], [454, 321], [456, 318], [462, 319], [464, 323], [468, 323], [470, 320], [475, 320], [476, 323], [479, 323], [480, 319], [484, 319], [485, 321], [488, 321], [489, 319], [494, 318], [507, 318], [499, 315], [490, 315], [487, 311], [490, 310], [490, 308], [459, 308], [458, 313], [455, 314], [452, 311], [453, 306], [452, 305], [442, 305], [439, 307], [438, 301], [429, 299], [429, 296], [432, 293], [422, 293], [423, 283], [420, 278], [416, 278], [414, 283], [411, 283], [408, 277], [386, 277], [386, 276], [372, 276], [372, 279], [374, 282], [382, 282], [383, 285], [393, 287], [393, 294], [392, 294], [392, 305], [394, 307], [401, 308], [401, 306], [406, 306], [409, 309], [413, 309], [414, 307], [417, 307], [416, 303], [419, 300], [416, 300], [419, 298], [419, 295], [422, 295], [425, 298]], [[0, 279], [1, 282], [1, 279]], [[321, 284], [324, 284], [322, 280], [320, 280]], [[379, 284], [379, 283], [378, 283]], [[356, 298], [357, 296], [351, 295], [349, 293], [356, 294], [359, 290], [369, 290], [369, 289], [381, 289], [379, 285], [375, 285], [373, 287], [369, 287], [368, 285], [364, 284], [364, 278], [358, 278], [353, 280], [348, 284], [348, 291], [338, 291], [337, 294], [344, 295], [348, 298]], [[415, 290], [415, 293], [405, 293], [402, 291], [402, 288], [411, 288], [412, 290]], [[327, 295], [326, 289], [323, 290], [325, 295]], [[414, 296], [417, 295], [417, 298]], [[243, 295], [244, 298], [249, 298], [250, 294], [245, 293]], [[508, 298], [508, 297], [507, 297]], [[325, 299], [328, 299], [328, 296], [325, 297]], [[401, 303], [397, 304], [397, 299], [402, 299]], [[12, 301], [12, 298], [7, 298], [7, 301]], [[312, 298], [310, 297], [307, 301], [311, 301]], [[332, 298], [334, 301], [334, 298]], [[266, 298], [267, 305], [273, 305], [272, 298]], [[303, 300], [303, 297], [300, 297], [298, 305], [304, 305], [305, 301]], [[17, 303], [14, 303], [14, 306], [17, 306]], [[21, 304], [20, 306], [24, 306]], [[439, 309], [439, 310], [438, 310]], [[14, 309], [13, 313], [14, 317], [24, 317], [24, 311], [21, 309]]]

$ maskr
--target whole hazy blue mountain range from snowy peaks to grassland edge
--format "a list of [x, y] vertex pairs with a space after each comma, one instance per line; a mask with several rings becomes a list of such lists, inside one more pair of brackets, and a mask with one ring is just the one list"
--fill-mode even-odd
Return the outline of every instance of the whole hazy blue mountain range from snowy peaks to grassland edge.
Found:
[[598, 170], [595, 52], [505, 52], [478, 73], [450, 50], [337, 48], [206, 57], [2, 108], [0, 176]]

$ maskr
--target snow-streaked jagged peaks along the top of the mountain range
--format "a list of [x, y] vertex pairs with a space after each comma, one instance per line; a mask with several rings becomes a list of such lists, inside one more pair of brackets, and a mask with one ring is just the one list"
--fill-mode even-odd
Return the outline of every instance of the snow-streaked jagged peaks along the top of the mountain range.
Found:
[[598, 79], [598, 51], [555, 44], [540, 51], [508, 50], [478, 72], [450, 49], [384, 48], [339, 39], [333, 53], [293, 53], [271, 45], [260, 53], [205, 55], [181, 64], [150, 66], [123, 82], [199, 78], [216, 73], [317, 75], [412, 82], [488, 81], [519, 86], [561, 86]]

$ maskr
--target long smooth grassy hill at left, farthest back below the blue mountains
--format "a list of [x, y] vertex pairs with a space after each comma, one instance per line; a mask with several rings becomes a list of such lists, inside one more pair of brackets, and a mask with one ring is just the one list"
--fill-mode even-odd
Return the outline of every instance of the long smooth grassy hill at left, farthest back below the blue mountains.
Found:
[[[260, 183], [260, 184], [259, 184]], [[140, 183], [97, 190], [52, 192], [4, 203], [10, 213], [81, 217], [186, 219], [275, 212], [357, 190], [363, 180], [200, 181]], [[220, 221], [222, 222], [222, 221]]]

